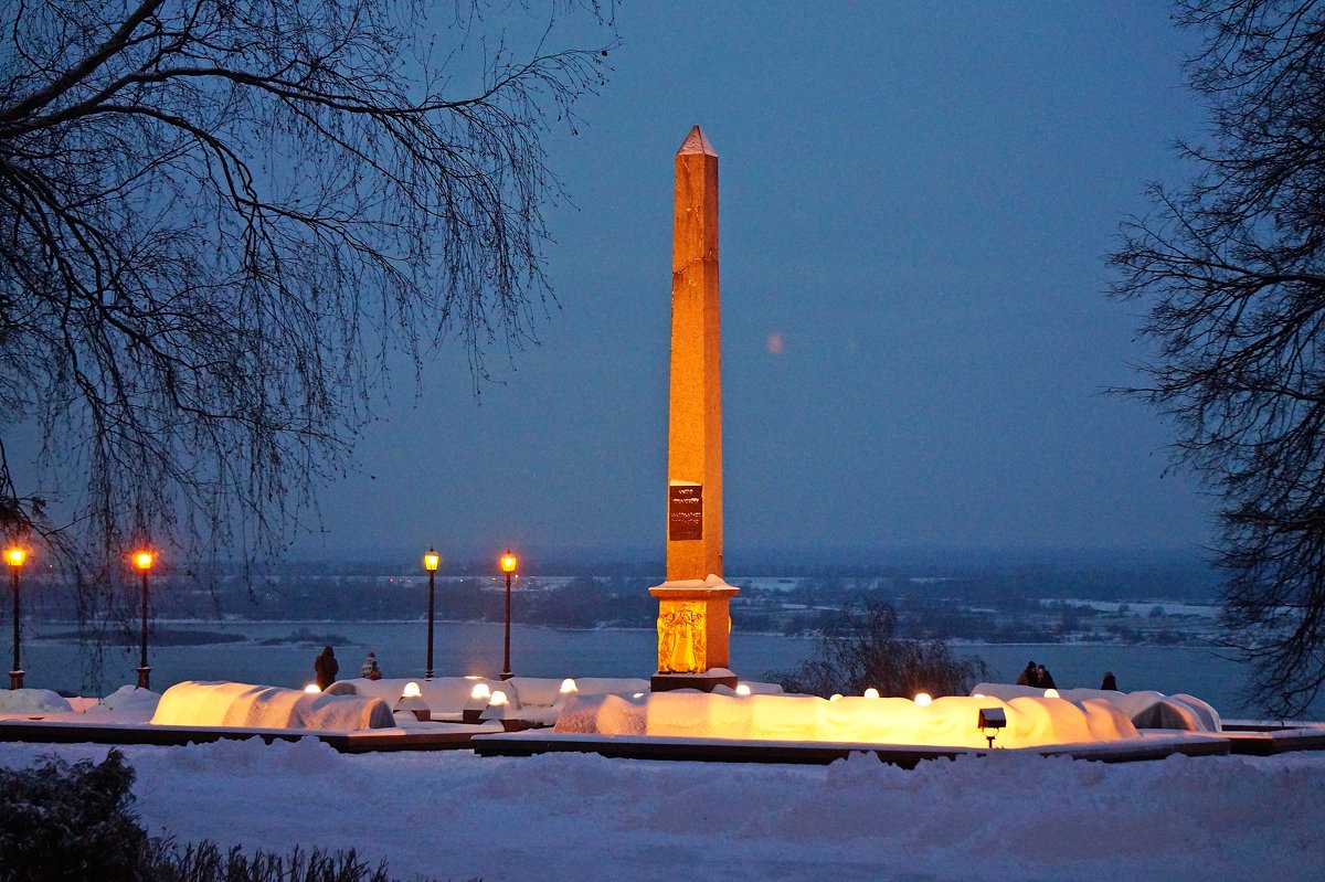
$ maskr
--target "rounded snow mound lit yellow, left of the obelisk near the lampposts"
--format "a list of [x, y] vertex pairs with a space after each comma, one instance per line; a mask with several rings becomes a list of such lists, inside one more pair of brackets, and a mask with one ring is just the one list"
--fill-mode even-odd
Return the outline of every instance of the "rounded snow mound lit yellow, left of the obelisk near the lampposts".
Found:
[[154, 726], [233, 726], [348, 732], [395, 726], [378, 698], [305, 693], [276, 686], [186, 681], [166, 690]]

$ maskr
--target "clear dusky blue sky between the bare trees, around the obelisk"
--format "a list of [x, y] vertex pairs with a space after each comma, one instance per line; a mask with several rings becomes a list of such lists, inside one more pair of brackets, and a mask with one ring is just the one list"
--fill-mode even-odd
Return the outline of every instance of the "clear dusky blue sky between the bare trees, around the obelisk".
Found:
[[[518, 15], [518, 12], [515, 13]], [[1170, 548], [1137, 305], [1104, 294], [1146, 180], [1199, 136], [1155, 3], [628, 4], [558, 130], [541, 346], [396, 377], [293, 554], [662, 555], [672, 158], [721, 162], [727, 571], [754, 550]], [[588, 40], [610, 34], [590, 32]], [[780, 348], [774, 340], [780, 339]]]

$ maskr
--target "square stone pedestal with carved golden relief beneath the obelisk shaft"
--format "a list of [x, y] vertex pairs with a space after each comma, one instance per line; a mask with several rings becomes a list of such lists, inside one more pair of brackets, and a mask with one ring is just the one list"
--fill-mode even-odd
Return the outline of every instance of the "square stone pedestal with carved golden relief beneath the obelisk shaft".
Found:
[[738, 589], [718, 576], [665, 581], [649, 588], [659, 599], [659, 671], [653, 691], [735, 687], [727, 669], [731, 616], [727, 604]]

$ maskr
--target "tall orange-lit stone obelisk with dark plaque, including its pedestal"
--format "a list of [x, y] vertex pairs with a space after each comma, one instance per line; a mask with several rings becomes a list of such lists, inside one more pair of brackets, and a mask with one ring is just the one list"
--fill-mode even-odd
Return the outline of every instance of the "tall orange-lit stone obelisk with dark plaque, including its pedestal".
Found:
[[653, 689], [735, 686], [727, 669], [737, 589], [722, 580], [722, 369], [718, 155], [700, 127], [676, 154], [666, 581]]

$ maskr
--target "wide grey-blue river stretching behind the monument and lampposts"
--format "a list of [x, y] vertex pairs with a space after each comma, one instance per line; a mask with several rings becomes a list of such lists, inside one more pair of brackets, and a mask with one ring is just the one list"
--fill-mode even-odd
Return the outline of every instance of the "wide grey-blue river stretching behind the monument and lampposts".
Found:
[[[387, 677], [423, 677], [427, 624], [407, 622], [203, 622], [168, 625], [172, 630], [205, 630], [242, 637], [242, 642], [200, 646], [151, 646], [152, 687], [158, 691], [183, 679], [229, 679], [274, 686], [303, 686], [313, 679], [313, 657], [321, 644], [262, 645], [307, 629], [317, 636], [338, 634], [335, 653], [342, 677], [358, 674], [371, 649]], [[69, 691], [83, 687], [86, 662], [78, 646], [42, 634], [68, 632], [64, 625], [25, 625], [23, 662], [26, 686]], [[656, 669], [657, 637], [653, 630], [511, 630], [511, 667], [529, 677], [648, 677]], [[1114, 645], [1018, 645], [962, 644], [959, 656], [983, 658], [994, 679], [1011, 682], [1028, 660], [1048, 666], [1059, 686], [1098, 687], [1112, 670], [1121, 689], [1154, 689], [1189, 693], [1212, 703], [1226, 716], [1259, 715], [1243, 703], [1246, 683], [1242, 665], [1208, 649]], [[770, 671], [795, 667], [814, 652], [814, 641], [776, 634], [731, 634], [731, 667], [747, 679], [768, 679]], [[440, 675], [482, 674], [501, 670], [502, 626], [489, 622], [439, 622], [433, 638], [435, 671]], [[138, 663], [132, 649], [107, 648], [102, 693], [134, 682]], [[1317, 705], [1312, 714], [1322, 718]]]

